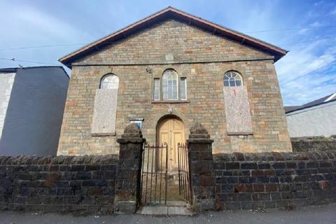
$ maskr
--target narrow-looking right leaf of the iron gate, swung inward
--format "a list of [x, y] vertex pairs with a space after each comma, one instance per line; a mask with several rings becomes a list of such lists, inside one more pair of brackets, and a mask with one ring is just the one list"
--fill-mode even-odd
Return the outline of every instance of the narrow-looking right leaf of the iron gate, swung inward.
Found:
[[178, 144], [177, 155], [179, 161], [179, 194], [183, 200], [191, 204], [190, 164], [187, 144]]

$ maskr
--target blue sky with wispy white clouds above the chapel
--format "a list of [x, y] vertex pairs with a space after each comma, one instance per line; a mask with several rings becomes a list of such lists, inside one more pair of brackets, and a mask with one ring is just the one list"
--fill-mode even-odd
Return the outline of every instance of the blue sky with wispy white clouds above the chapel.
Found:
[[167, 6], [289, 50], [275, 63], [285, 106], [336, 92], [335, 0], [0, 0], [0, 68], [62, 65], [60, 57]]

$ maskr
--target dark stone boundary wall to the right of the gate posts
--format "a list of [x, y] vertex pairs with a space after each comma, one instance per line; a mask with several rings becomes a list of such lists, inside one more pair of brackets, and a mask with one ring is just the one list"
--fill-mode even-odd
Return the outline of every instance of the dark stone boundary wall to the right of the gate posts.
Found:
[[216, 208], [292, 208], [336, 202], [336, 151], [214, 155]]

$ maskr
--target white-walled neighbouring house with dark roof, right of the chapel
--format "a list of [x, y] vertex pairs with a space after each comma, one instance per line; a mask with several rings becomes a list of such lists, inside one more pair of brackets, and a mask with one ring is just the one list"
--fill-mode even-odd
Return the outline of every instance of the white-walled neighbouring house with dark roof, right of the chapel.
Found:
[[302, 106], [285, 106], [290, 137], [336, 134], [336, 92]]

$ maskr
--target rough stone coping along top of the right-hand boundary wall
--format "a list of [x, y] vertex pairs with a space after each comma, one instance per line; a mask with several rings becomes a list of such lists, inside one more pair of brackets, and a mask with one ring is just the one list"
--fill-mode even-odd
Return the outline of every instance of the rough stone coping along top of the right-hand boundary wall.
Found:
[[297, 153], [218, 153], [214, 154], [215, 162], [244, 161], [301, 161], [301, 160], [335, 160], [336, 151], [310, 151]]

